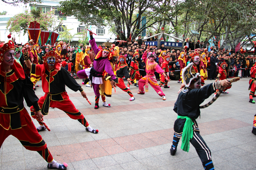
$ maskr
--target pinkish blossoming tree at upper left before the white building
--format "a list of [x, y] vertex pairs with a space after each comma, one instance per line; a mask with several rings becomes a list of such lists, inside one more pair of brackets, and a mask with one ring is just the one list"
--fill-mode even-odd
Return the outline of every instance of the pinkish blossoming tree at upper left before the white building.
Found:
[[[53, 11], [49, 11], [47, 13], [40, 12], [39, 15], [33, 15], [29, 11], [25, 11], [25, 13], [17, 14], [14, 17], [10, 18], [7, 22], [6, 28], [10, 32], [16, 32], [17, 34], [23, 35], [26, 34], [27, 28], [29, 28], [30, 22], [37, 21], [40, 23], [40, 28], [42, 30], [57, 30], [61, 24], [63, 23], [62, 20], [57, 20], [55, 17], [52, 17]], [[57, 25], [57, 26], [56, 26]]]

